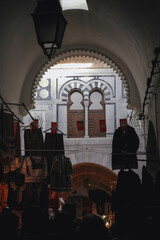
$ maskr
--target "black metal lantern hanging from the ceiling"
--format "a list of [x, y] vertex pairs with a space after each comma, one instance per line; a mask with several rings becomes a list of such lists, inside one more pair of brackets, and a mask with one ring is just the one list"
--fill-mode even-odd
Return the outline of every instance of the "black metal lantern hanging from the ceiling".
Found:
[[38, 1], [33, 17], [38, 43], [50, 59], [60, 49], [67, 21], [58, 0]]

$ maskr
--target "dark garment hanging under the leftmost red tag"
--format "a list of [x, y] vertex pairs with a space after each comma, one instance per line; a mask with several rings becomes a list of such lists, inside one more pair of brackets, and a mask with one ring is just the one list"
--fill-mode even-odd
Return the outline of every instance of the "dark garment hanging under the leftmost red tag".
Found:
[[24, 144], [26, 156], [43, 156], [43, 134], [41, 128], [31, 131], [24, 130]]

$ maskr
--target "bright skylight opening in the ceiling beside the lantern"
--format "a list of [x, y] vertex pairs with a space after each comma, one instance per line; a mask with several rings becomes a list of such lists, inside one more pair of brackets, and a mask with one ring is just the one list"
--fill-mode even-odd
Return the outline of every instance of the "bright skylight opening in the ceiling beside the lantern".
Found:
[[81, 9], [88, 11], [86, 0], [60, 0], [62, 10]]

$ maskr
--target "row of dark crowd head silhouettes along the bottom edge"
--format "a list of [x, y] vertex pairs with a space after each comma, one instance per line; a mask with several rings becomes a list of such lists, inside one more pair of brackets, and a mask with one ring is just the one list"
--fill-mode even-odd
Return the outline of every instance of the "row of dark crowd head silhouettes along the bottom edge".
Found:
[[140, 222], [138, 215], [135, 214], [135, 208], [128, 207], [124, 210], [121, 221], [115, 221], [107, 228], [104, 219], [98, 214], [89, 213], [77, 219], [69, 212], [62, 210], [55, 215], [54, 219], [49, 219], [40, 207], [30, 206], [24, 209], [22, 224], [19, 228], [18, 216], [8, 208], [4, 208], [0, 214], [0, 239], [159, 239], [159, 212], [155, 209], [154, 214], [141, 218]]

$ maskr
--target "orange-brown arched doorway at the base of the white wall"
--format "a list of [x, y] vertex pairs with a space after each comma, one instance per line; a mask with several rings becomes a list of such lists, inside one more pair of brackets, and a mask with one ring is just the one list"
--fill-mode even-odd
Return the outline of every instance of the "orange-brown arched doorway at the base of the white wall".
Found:
[[95, 213], [114, 221], [111, 210], [111, 194], [117, 183], [117, 175], [100, 164], [78, 163], [73, 165], [72, 192], [62, 193], [65, 210], [76, 218]]

